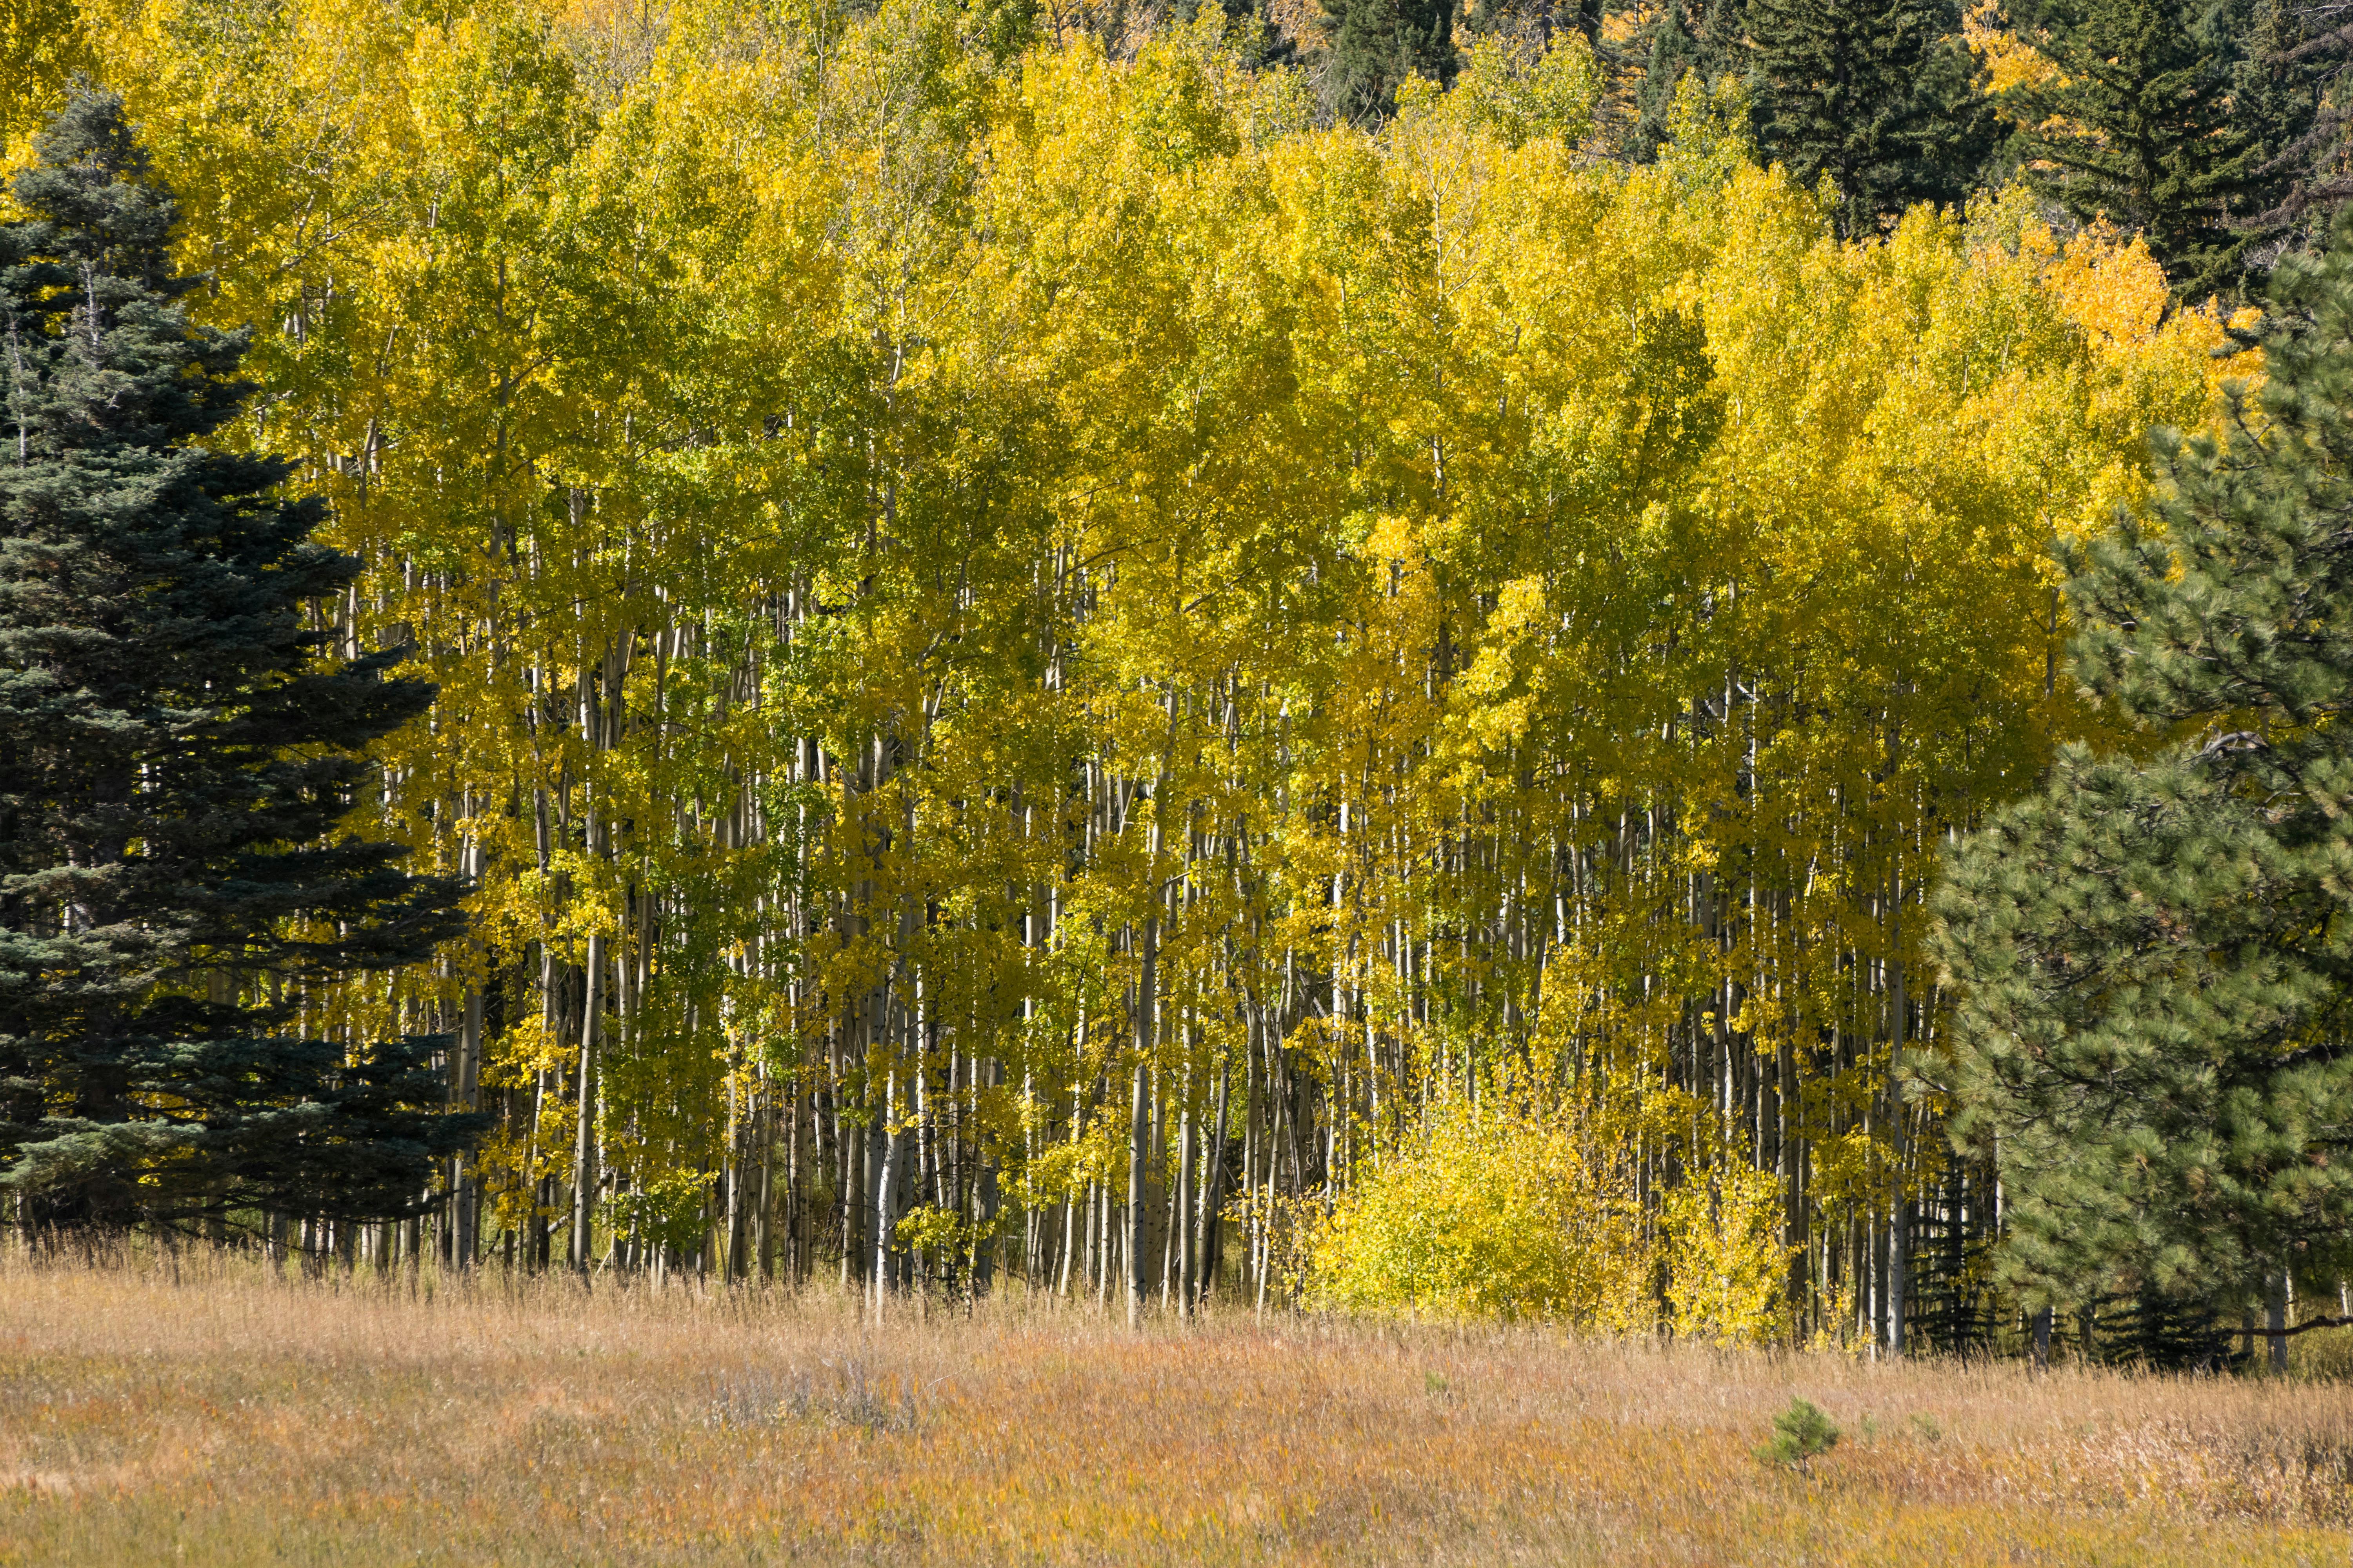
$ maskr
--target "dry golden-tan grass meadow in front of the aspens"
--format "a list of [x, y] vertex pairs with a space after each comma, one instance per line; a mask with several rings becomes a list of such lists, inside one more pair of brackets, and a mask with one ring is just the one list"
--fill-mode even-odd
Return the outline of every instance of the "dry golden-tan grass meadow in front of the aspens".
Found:
[[[2344, 1563], [2353, 1387], [0, 1267], [5, 1563]], [[1847, 1439], [1753, 1458], [1807, 1396]]]

